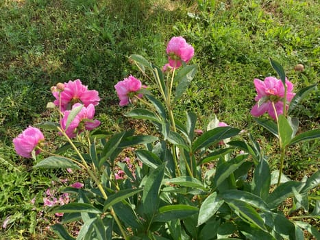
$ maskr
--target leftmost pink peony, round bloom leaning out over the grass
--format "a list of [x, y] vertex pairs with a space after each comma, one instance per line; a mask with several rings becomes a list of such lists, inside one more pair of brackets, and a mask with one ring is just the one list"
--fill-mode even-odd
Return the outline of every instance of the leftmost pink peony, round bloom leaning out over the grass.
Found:
[[[19, 136], [13, 139], [14, 149], [16, 153], [25, 158], [32, 158], [32, 151], [45, 140], [42, 132], [38, 128], [29, 126]], [[36, 154], [39, 154], [40, 150], [36, 149]]]

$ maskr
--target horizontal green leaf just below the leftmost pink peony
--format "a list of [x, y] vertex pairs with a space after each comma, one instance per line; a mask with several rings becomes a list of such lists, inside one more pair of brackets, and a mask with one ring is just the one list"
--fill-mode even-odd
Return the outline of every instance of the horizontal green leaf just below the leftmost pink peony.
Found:
[[59, 156], [49, 156], [48, 158], [45, 158], [41, 160], [39, 163], [37, 163], [34, 167], [39, 168], [60, 168], [60, 169], [66, 169], [66, 168], [73, 168], [73, 169], [79, 169], [79, 166], [76, 163], [73, 163], [73, 161]]

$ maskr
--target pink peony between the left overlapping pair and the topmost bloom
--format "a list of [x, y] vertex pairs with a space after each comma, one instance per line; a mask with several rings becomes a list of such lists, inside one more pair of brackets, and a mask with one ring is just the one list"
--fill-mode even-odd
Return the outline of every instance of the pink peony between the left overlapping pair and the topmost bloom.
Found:
[[[142, 86], [140, 80], [136, 79], [136, 77], [130, 75], [125, 78], [123, 81], [118, 82], [114, 88], [116, 88], [116, 93], [120, 99], [120, 106], [126, 106], [130, 102], [130, 98], [136, 95], [136, 92], [139, 91]], [[137, 95], [138, 98], [143, 97], [142, 94]]]

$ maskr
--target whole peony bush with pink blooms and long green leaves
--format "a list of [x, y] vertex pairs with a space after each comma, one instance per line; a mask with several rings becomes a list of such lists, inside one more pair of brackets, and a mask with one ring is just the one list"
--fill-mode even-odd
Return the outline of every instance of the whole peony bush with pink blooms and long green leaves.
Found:
[[[42, 137], [31, 147], [16, 149], [26, 157], [32, 151], [48, 155], [34, 167], [76, 168], [88, 176], [82, 188], [64, 190], [75, 195], [75, 202], [52, 208], [52, 213], [64, 213], [61, 223], [51, 226], [60, 238], [74, 239], [63, 224], [79, 219], [77, 239], [303, 239], [304, 230], [319, 237], [314, 226], [296, 221], [299, 218], [291, 213], [303, 209], [307, 214], [299, 217], [319, 215], [319, 200], [315, 203], [310, 191], [319, 186], [320, 171], [301, 182], [282, 174], [289, 145], [320, 138], [318, 129], [297, 134], [299, 121], [290, 116], [316, 85], [293, 93], [284, 69], [272, 59], [280, 80], [254, 81], [258, 103], [251, 113], [256, 117], [269, 113], [271, 119], [255, 120], [279, 143], [280, 169], [271, 172], [267, 156], [251, 134], [244, 136], [217, 117], [203, 131], [195, 128], [195, 113], [186, 112], [185, 121], [175, 116], [197, 71], [197, 65], [187, 64], [193, 54], [193, 47], [180, 36], [169, 41], [169, 65], [162, 68], [142, 56], [130, 56], [155, 95], [143, 91], [143, 84], [132, 75], [115, 86], [120, 106], [133, 98], [138, 101], [126, 116], [149, 121], [157, 136], [135, 135], [134, 130], [112, 136], [102, 128], [93, 131], [99, 125], [93, 120], [98, 94], [88, 93], [78, 80], [52, 88], [60, 123], [38, 127], [60, 132], [66, 144], [57, 150], [59, 155], [38, 144]], [[137, 159], [123, 159], [123, 149], [133, 146]], [[69, 149], [75, 154], [70, 155]], [[207, 168], [211, 163], [214, 167]], [[288, 198], [294, 204], [285, 214], [281, 206]]]

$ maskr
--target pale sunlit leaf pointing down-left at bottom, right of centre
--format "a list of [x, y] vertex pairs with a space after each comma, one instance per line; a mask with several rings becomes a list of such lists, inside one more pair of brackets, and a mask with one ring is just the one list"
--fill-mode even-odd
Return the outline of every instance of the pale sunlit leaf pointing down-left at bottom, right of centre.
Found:
[[223, 204], [223, 199], [217, 195], [217, 192], [210, 194], [201, 204], [198, 217], [198, 225], [204, 224], [213, 215], [217, 213], [220, 206]]

